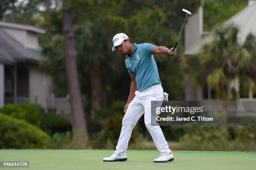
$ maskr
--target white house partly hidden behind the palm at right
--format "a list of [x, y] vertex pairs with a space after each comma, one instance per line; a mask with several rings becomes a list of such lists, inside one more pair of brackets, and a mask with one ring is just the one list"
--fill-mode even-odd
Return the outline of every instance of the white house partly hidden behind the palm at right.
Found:
[[[238, 26], [238, 43], [243, 43], [248, 33], [256, 36], [256, 1], [249, 0], [248, 6], [239, 13], [228, 19], [223, 26], [234, 24]], [[205, 43], [210, 43], [213, 39], [212, 33], [203, 32], [203, 8], [198, 9], [197, 13], [192, 15], [185, 26], [185, 55], [195, 55]], [[239, 84], [234, 81], [234, 87]], [[239, 87], [238, 87], [239, 88]], [[254, 94], [255, 95], [255, 94]], [[192, 84], [189, 76], [186, 78], [185, 100], [204, 100], [212, 99], [210, 86], [205, 82], [205, 86]], [[248, 99], [253, 99], [253, 92], [248, 90]]]

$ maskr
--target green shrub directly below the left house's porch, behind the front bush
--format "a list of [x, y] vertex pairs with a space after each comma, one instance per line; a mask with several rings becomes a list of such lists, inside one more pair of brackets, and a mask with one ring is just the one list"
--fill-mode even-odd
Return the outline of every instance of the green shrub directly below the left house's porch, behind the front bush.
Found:
[[0, 112], [40, 127], [44, 109], [38, 104], [33, 103], [5, 104], [0, 109]]

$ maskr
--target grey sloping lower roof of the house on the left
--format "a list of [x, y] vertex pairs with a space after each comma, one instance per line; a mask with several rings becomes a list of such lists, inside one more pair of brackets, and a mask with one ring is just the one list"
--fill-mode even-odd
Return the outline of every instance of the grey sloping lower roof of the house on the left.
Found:
[[28, 49], [0, 28], [0, 62], [39, 62], [39, 51]]

